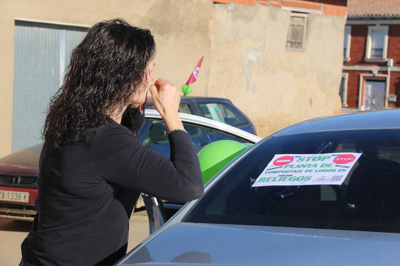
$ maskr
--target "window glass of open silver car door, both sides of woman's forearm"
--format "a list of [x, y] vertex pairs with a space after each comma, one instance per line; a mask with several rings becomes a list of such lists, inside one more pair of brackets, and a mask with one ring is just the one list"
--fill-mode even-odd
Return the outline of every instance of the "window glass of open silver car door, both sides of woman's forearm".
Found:
[[[235, 137], [230, 134], [222, 134], [216, 130], [210, 130], [192, 124], [184, 123], [184, 128], [192, 137], [192, 144], [196, 152], [199, 152], [204, 146], [217, 140], [236, 140], [240, 143], [244, 142], [240, 137]], [[143, 132], [139, 133], [139, 135], [142, 134]], [[144, 134], [142, 143], [143, 145], [156, 150], [166, 158], [170, 158], [170, 146], [164, 122], [152, 121], [148, 131]]]

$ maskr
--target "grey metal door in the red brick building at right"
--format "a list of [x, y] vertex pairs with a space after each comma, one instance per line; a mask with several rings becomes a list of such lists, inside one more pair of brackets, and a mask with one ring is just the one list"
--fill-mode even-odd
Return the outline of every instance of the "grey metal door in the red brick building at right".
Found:
[[365, 110], [382, 109], [385, 106], [386, 82], [376, 80], [365, 81]]

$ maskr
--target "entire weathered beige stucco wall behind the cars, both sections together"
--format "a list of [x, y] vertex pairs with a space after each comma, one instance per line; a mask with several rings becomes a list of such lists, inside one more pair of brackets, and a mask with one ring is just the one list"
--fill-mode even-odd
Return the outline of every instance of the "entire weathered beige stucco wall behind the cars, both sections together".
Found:
[[154, 76], [178, 88], [201, 56], [192, 95], [225, 97], [259, 136], [340, 112], [342, 17], [308, 14], [304, 51], [286, 51], [290, 11], [209, 0], [0, 0], [0, 157], [11, 152], [15, 18], [92, 25], [124, 18], [149, 28], [158, 53]]

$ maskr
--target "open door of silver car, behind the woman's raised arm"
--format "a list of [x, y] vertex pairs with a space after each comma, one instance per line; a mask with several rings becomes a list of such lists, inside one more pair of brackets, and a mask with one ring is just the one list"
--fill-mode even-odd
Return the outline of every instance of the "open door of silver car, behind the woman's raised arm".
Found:
[[[225, 123], [191, 114], [179, 114], [185, 129], [192, 136], [192, 144], [197, 152], [207, 144], [218, 140], [234, 140], [250, 144], [261, 140], [258, 136]], [[169, 158], [170, 145], [166, 126], [162, 121], [161, 115], [156, 110], [146, 110], [146, 121], [138, 137], [144, 145]], [[146, 206], [149, 218], [149, 232], [152, 234], [170, 219], [183, 206], [183, 203], [163, 201], [142, 194], [142, 197], [136, 203], [136, 207], [142, 207], [143, 205]]]

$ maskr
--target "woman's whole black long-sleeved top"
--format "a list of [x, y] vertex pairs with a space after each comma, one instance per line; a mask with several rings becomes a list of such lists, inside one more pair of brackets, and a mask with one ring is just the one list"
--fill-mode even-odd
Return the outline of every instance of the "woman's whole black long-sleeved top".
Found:
[[136, 136], [144, 115], [131, 108], [122, 124], [85, 130], [76, 146], [44, 145], [25, 265], [112, 265], [126, 253], [128, 223], [140, 192], [174, 202], [203, 194], [190, 135], [168, 134], [171, 159]]

